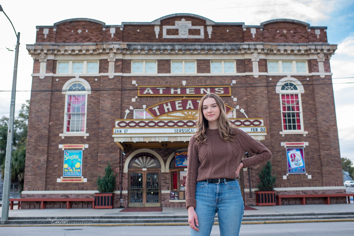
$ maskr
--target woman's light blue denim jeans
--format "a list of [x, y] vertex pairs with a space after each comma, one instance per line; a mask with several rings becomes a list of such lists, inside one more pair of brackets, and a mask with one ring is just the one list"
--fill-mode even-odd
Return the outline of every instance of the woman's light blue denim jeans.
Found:
[[244, 213], [244, 202], [237, 180], [224, 183], [197, 182], [194, 209], [199, 231], [190, 229], [191, 236], [210, 236], [215, 214], [218, 213], [220, 236], [238, 236]]

